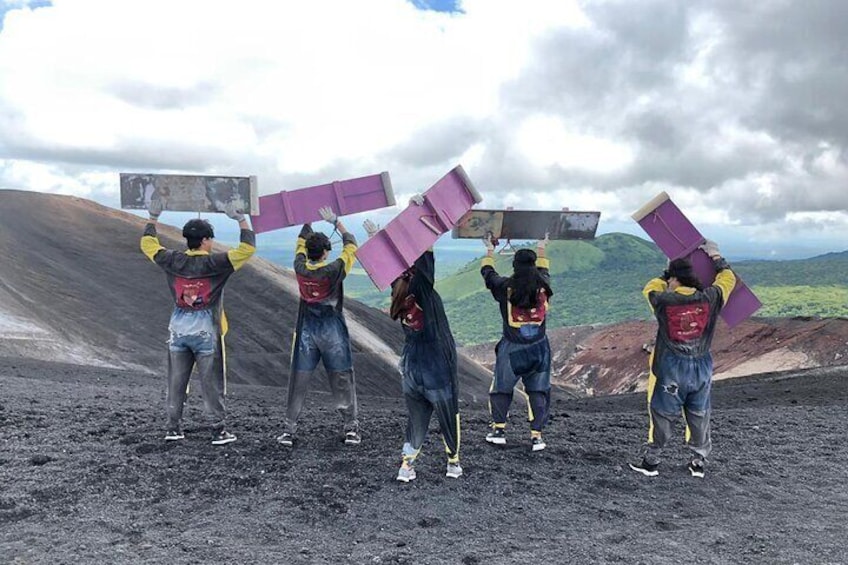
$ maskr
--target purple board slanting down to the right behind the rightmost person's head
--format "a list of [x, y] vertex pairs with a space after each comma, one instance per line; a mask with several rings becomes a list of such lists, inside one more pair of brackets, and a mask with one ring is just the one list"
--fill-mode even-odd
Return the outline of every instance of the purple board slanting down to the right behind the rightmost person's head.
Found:
[[[671, 201], [668, 194], [660, 193], [636, 211], [633, 219], [642, 226], [666, 257], [672, 260], [689, 257], [701, 282], [705, 285], [713, 283], [715, 269], [712, 259], [703, 250], [698, 249], [706, 239]], [[721, 317], [728, 327], [732, 328], [751, 317], [762, 305], [760, 299], [737, 274], [736, 287], [730, 293], [730, 298], [721, 311]]]

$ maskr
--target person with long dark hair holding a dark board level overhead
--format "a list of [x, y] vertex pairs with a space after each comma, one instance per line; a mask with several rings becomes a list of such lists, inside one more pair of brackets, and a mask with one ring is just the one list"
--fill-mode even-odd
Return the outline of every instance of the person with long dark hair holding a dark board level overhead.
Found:
[[503, 335], [495, 346], [495, 374], [489, 389], [492, 430], [486, 441], [506, 445], [506, 421], [515, 385], [521, 380], [528, 396], [532, 451], [545, 449], [542, 430], [551, 402], [551, 345], [545, 333], [548, 301], [553, 296], [550, 263], [545, 257], [548, 236], [536, 251], [519, 249], [512, 260], [512, 275], [495, 270], [491, 236], [483, 239], [486, 256], [480, 274], [500, 306]]

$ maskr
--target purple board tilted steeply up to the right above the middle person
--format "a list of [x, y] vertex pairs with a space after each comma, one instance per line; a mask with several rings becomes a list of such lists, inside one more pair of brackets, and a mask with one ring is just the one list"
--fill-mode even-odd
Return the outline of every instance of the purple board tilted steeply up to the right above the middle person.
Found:
[[359, 263], [380, 290], [388, 288], [482, 200], [461, 165], [439, 179], [423, 196], [423, 205], [407, 206], [356, 252]]

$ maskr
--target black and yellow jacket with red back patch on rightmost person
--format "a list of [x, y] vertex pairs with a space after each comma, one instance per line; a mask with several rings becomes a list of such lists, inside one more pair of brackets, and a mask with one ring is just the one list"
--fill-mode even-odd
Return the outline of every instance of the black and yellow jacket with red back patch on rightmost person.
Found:
[[689, 357], [709, 353], [718, 316], [736, 286], [736, 275], [724, 259], [713, 264], [715, 281], [704, 290], [678, 286], [669, 291], [662, 278], [651, 279], [642, 290], [659, 326], [654, 365], [668, 352]]

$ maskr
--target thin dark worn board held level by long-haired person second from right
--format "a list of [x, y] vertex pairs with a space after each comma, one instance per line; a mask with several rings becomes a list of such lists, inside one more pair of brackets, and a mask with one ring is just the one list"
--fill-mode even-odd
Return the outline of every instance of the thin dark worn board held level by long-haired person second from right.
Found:
[[454, 239], [594, 239], [600, 212], [469, 210], [453, 228]]

